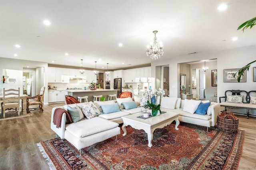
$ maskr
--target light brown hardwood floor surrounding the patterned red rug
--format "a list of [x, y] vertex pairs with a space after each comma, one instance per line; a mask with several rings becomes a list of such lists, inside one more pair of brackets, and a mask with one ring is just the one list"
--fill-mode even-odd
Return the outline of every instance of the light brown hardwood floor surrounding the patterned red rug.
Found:
[[[29, 117], [0, 121], [0, 170], [49, 169], [36, 144], [56, 137], [50, 129], [51, 111], [52, 107], [62, 105], [44, 105], [43, 112], [31, 111]], [[237, 116], [239, 129], [246, 130], [238, 170], [256, 170], [256, 118]]]

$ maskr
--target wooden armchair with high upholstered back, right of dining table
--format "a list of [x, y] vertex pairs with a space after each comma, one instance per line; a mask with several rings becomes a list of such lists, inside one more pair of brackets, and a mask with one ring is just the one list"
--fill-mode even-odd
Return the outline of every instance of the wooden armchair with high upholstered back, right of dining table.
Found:
[[[44, 90], [45, 87], [43, 86], [40, 90], [40, 94], [33, 96], [33, 97], [27, 97], [27, 113], [29, 113], [30, 111], [34, 111], [34, 110], [41, 110], [44, 111], [43, 109], [43, 104], [44, 104]], [[29, 108], [29, 106], [31, 105], [39, 105], [39, 107], [33, 107], [33, 108]]]

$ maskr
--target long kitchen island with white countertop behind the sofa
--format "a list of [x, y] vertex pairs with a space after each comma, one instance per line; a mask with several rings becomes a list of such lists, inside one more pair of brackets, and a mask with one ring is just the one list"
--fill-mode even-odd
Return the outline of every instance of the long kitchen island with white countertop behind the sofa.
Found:
[[[73, 96], [77, 99], [78, 96], [88, 96], [88, 102], [93, 101], [93, 96], [106, 96], [106, 100], [108, 100], [109, 94], [116, 94], [118, 90], [116, 89], [96, 89], [96, 90], [65, 90], [65, 95]], [[118, 96], [116, 96], [118, 97]], [[84, 101], [83, 101], [84, 102]]]

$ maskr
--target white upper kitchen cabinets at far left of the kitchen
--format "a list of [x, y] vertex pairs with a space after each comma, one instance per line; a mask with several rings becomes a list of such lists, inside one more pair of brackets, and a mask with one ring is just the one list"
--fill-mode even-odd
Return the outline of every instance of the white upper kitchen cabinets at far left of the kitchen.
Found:
[[48, 82], [69, 83], [67, 68], [48, 67]]

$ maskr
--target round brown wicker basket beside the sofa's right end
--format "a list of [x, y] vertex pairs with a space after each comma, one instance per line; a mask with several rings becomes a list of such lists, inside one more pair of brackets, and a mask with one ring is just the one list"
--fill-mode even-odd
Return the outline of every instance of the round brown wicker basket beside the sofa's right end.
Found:
[[227, 133], [236, 133], [238, 129], [238, 118], [234, 116], [234, 113], [226, 113], [224, 117], [218, 115], [218, 128]]

